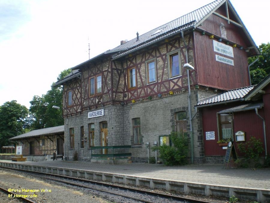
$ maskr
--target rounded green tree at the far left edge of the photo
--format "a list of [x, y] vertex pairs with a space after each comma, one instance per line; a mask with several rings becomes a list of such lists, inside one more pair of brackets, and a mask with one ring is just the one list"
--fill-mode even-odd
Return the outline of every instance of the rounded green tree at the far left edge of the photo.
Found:
[[0, 108], [0, 149], [9, 145], [9, 138], [23, 134], [28, 119], [28, 109], [16, 100], [5, 102]]

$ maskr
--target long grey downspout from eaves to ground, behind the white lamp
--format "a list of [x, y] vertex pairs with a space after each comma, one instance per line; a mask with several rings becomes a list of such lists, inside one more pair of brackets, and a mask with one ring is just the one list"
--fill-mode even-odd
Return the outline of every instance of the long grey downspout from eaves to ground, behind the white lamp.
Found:
[[[187, 51], [187, 44], [184, 39], [184, 32], [181, 31], [181, 36], [186, 48], [186, 63], [188, 63], [188, 51]], [[192, 129], [192, 118], [191, 118], [191, 92], [190, 92], [190, 78], [189, 78], [189, 70], [187, 70], [187, 83], [188, 83], [188, 113], [189, 113], [189, 125], [190, 125], [190, 145], [191, 145], [191, 164], [194, 164], [194, 144], [193, 144], [193, 129]]]

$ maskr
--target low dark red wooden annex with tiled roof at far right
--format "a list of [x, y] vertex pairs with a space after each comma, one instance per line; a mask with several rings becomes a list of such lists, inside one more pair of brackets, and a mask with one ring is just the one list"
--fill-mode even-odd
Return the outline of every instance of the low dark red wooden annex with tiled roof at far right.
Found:
[[223, 161], [228, 143], [232, 140], [238, 157], [245, 154], [239, 143], [247, 143], [251, 137], [259, 139], [264, 151], [270, 153], [270, 75], [258, 85], [238, 88], [199, 102], [196, 107], [202, 113], [204, 155], [210, 162]]

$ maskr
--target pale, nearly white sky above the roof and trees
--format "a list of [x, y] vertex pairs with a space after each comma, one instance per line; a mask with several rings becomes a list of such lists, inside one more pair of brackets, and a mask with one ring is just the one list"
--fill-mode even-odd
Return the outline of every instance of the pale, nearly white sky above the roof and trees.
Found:
[[[29, 108], [57, 76], [213, 0], [0, 0], [0, 105]], [[188, 2], [188, 3], [185, 3]], [[270, 41], [266, 0], [231, 0], [256, 45]]]

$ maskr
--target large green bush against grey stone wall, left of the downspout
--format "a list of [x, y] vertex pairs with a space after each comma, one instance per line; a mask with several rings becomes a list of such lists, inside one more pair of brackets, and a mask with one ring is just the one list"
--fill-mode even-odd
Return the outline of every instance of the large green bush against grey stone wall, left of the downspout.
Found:
[[159, 149], [160, 158], [163, 160], [164, 165], [185, 165], [187, 164], [188, 153], [188, 140], [186, 136], [180, 136], [176, 132], [172, 132], [169, 135], [169, 139], [173, 145], [162, 145], [158, 147], [152, 147], [152, 151]]

